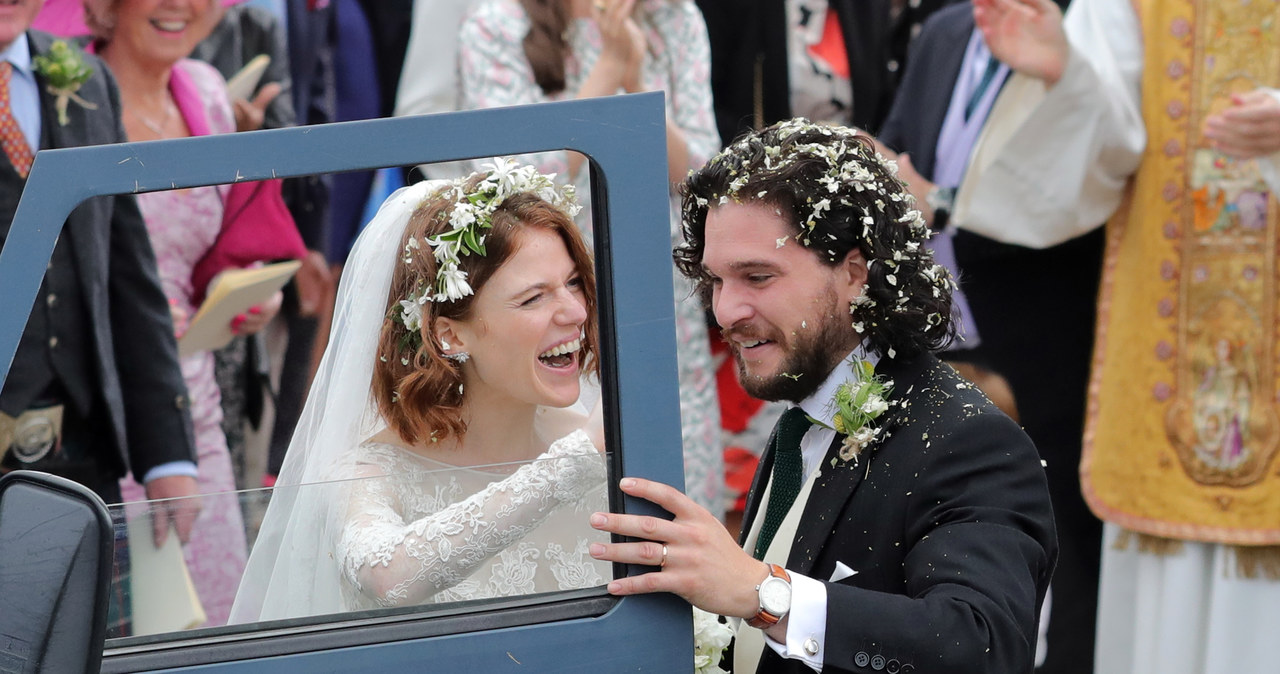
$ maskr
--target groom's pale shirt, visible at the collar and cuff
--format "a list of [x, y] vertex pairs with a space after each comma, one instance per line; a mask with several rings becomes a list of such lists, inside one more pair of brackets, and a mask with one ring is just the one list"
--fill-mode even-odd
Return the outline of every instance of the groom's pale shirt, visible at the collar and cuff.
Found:
[[[829, 422], [836, 413], [836, 389], [852, 380], [854, 361], [867, 361], [873, 366], [879, 357], [859, 345], [845, 357], [818, 390], [800, 400], [800, 409], [815, 419]], [[836, 430], [828, 426], [812, 426], [800, 439], [800, 460], [804, 466], [804, 481], [822, 464], [827, 449], [836, 440]], [[820, 581], [787, 570], [791, 576], [791, 611], [787, 614], [787, 641], [780, 643], [764, 637], [764, 643], [782, 657], [800, 660], [814, 671], [822, 671], [823, 652], [827, 648], [827, 586]], [[810, 648], [805, 648], [805, 645]], [[817, 646], [817, 648], [813, 648]], [[809, 652], [809, 651], [814, 652]]]

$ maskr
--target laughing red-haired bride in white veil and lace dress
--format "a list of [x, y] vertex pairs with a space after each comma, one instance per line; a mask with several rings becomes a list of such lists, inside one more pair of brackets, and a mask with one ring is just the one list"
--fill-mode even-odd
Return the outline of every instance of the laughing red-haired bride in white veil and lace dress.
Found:
[[[232, 609], [244, 623], [591, 587], [595, 279], [530, 166], [392, 194], [356, 243]], [[584, 430], [591, 430], [590, 435]]]

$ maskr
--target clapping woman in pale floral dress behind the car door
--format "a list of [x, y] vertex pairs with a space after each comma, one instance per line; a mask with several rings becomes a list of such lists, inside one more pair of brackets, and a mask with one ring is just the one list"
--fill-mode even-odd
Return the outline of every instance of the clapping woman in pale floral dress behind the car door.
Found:
[[[667, 93], [667, 174], [675, 184], [719, 146], [712, 118], [707, 29], [692, 0], [485, 0], [458, 36], [460, 106], [499, 107], [620, 92]], [[589, 193], [582, 156], [521, 157]], [[677, 200], [671, 202], [676, 240]], [[590, 224], [585, 224], [590, 231]], [[723, 446], [707, 324], [673, 272], [685, 486], [724, 509]]]

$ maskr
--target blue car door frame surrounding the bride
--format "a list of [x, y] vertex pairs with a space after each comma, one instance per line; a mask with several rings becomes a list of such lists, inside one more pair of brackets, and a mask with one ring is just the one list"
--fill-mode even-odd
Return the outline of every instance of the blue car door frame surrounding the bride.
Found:
[[[41, 151], [0, 252], [0, 380], [70, 211], [106, 194], [575, 150], [590, 157], [611, 476], [684, 485], [662, 93]], [[198, 157], [198, 161], [192, 161]], [[625, 280], [625, 283], [623, 283]], [[611, 492], [613, 508], [669, 517]], [[616, 568], [618, 574], [650, 570]], [[603, 588], [109, 645], [104, 671], [687, 671], [689, 605]]]

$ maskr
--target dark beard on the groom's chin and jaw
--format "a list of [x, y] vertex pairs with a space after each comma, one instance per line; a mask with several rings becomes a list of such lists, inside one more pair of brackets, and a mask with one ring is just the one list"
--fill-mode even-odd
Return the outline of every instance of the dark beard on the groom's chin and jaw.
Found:
[[737, 379], [742, 384], [742, 390], [762, 400], [792, 403], [813, 395], [826, 381], [827, 375], [856, 344], [856, 340], [850, 339], [855, 335], [851, 327], [852, 317], [847, 311], [841, 311], [838, 303], [835, 292], [826, 294], [817, 329], [797, 333], [792, 338], [788, 343], [791, 350], [778, 371], [772, 375], [749, 373], [742, 354], [733, 349]]

